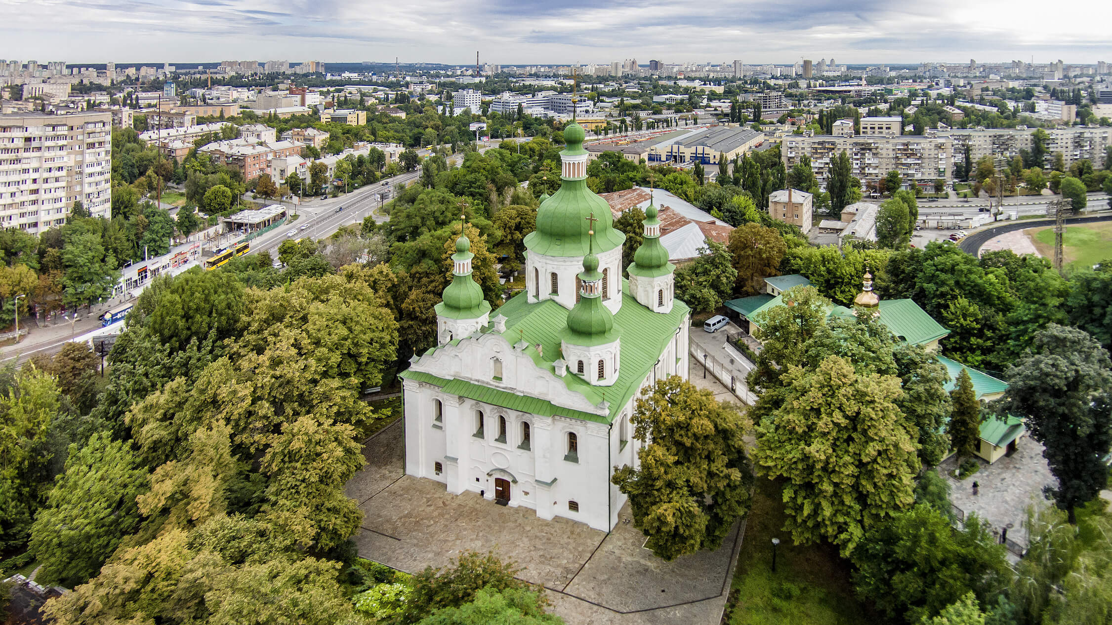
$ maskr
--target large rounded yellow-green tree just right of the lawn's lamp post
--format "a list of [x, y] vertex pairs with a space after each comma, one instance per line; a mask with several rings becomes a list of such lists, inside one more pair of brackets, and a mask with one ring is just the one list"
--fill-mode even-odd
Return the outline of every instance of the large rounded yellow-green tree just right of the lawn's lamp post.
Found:
[[830, 540], [848, 555], [914, 500], [916, 435], [895, 405], [900, 379], [828, 356], [814, 370], [790, 366], [783, 381], [785, 401], [756, 427], [754, 463], [787, 479], [784, 528], [796, 544]]

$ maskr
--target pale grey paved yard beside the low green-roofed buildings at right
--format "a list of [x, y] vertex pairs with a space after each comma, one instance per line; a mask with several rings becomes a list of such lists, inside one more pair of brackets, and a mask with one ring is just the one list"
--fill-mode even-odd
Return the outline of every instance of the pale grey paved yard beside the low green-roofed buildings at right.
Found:
[[[943, 460], [939, 470], [950, 482], [950, 502], [953, 505], [966, 515], [975, 512], [995, 532], [1000, 532], [1009, 523], [1013, 524], [1016, 529], [1010, 530], [1007, 537], [1026, 545], [1026, 533], [1019, 528], [1027, 517], [1027, 506], [1044, 500], [1044, 486], [1058, 484], [1042, 453], [1042, 445], [1030, 436], [1023, 436], [1015, 453], [1000, 458], [995, 464], [990, 465], [976, 458], [981, 470], [965, 479], [959, 482], [946, 474], [957, 466], [954, 456]], [[974, 482], [980, 485], [976, 495], [973, 495]]]

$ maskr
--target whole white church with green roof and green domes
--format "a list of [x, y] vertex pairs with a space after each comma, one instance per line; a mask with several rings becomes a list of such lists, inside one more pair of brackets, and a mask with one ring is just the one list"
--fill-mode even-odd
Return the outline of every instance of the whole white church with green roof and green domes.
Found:
[[638, 465], [634, 401], [658, 379], [687, 377], [691, 311], [675, 300], [652, 205], [622, 278], [625, 235], [587, 188], [583, 128], [573, 121], [564, 139], [560, 188], [542, 197], [525, 238], [525, 292], [490, 317], [470, 242], [456, 241], [437, 346], [400, 374], [405, 464], [455, 495], [609, 530], [626, 502], [614, 467]]

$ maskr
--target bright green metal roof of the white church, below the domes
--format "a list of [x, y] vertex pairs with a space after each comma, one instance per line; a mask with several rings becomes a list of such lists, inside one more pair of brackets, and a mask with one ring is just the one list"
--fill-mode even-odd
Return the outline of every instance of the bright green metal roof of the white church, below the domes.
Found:
[[[562, 378], [568, 389], [579, 393], [590, 404], [598, 406], [604, 400], [607, 401], [609, 414], [605, 417], [461, 380], [451, 380], [455, 386], [450, 387], [453, 390], [448, 390], [448, 380], [419, 371], [407, 370], [399, 375], [403, 378], [444, 386], [446, 393], [454, 393], [509, 409], [610, 423], [617, 418], [619, 410], [641, 388], [641, 383], [659, 360], [661, 353], [673, 339], [676, 329], [686, 323], [688, 314], [687, 306], [679, 300], [675, 300], [672, 311], [666, 315], [653, 312], [628, 295], [628, 287], [625, 280], [623, 282], [622, 308], [617, 315], [614, 315], [614, 331], [622, 339], [622, 359], [617, 380], [613, 386], [590, 386], [570, 371]], [[550, 299], [529, 304], [527, 295], [522, 292], [498, 308], [498, 312], [506, 317], [506, 331], [503, 336], [510, 344], [517, 344], [524, 339], [528, 344], [524, 350], [525, 354], [532, 357], [533, 361], [540, 368], [552, 371], [553, 363], [560, 357], [560, 338], [567, 325], [568, 310]], [[540, 344], [543, 356], [535, 347], [537, 344]], [[431, 354], [435, 349], [430, 349], [426, 354]], [[574, 366], [572, 370], [574, 370]], [[440, 385], [436, 380], [443, 380], [444, 384]]]

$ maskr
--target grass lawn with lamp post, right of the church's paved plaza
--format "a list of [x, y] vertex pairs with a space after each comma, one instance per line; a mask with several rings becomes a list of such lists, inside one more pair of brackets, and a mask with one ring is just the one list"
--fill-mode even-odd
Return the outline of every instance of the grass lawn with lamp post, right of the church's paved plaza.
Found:
[[[853, 595], [850, 566], [828, 545], [795, 546], [784, 526], [781, 485], [757, 478], [737, 558], [729, 625], [856, 625], [870, 623]], [[772, 538], [780, 538], [776, 573]]]

